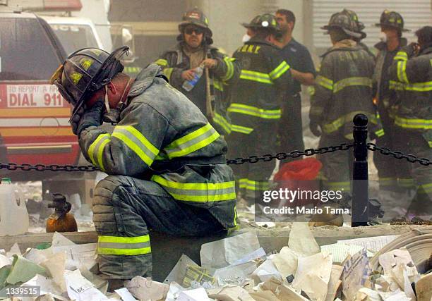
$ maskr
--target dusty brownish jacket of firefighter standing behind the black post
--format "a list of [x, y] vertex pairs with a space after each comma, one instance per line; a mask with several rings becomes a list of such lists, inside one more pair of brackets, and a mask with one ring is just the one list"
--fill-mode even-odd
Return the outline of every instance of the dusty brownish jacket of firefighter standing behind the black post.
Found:
[[324, 135], [353, 140], [352, 120], [357, 113], [368, 116], [369, 133], [384, 134], [373, 104], [373, 68], [373, 57], [350, 39], [337, 42], [323, 54], [309, 117]]

